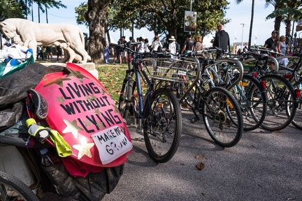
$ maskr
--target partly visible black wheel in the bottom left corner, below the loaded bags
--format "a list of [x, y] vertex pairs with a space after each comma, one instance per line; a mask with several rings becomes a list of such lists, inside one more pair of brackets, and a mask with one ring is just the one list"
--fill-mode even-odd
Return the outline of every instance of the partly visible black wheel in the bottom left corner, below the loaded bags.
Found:
[[0, 200], [38, 201], [38, 198], [22, 181], [6, 172], [0, 172]]

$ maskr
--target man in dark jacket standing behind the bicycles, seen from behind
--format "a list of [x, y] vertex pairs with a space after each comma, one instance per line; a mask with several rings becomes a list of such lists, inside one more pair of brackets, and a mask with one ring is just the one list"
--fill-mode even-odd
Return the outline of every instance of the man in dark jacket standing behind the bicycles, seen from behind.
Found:
[[[219, 24], [217, 26], [218, 31], [215, 34], [215, 40], [214, 40], [214, 47], [219, 47], [224, 51], [229, 50], [229, 52], [231, 52], [231, 45], [229, 42], [229, 34], [227, 33], [227, 31], [224, 31], [224, 25], [223, 24]], [[217, 55], [221, 56], [221, 55]]]

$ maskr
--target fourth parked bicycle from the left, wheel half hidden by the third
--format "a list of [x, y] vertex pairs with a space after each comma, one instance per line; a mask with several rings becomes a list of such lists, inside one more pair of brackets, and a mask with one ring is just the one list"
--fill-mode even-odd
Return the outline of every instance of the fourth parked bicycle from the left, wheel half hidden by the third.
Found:
[[[259, 50], [262, 51], [262, 50]], [[265, 50], [271, 52], [271, 50]], [[275, 52], [271, 52], [273, 54]], [[249, 70], [250, 74], [256, 74], [257, 79], [264, 83], [267, 96], [266, 119], [261, 124], [268, 131], [278, 131], [288, 126], [296, 114], [297, 97], [292, 84], [284, 77], [278, 75], [278, 61], [269, 54], [258, 52], [245, 52], [254, 57], [256, 64]], [[249, 60], [251, 61], [251, 60]], [[269, 62], [274, 63], [274, 68]], [[245, 64], [245, 62], [243, 62]]]

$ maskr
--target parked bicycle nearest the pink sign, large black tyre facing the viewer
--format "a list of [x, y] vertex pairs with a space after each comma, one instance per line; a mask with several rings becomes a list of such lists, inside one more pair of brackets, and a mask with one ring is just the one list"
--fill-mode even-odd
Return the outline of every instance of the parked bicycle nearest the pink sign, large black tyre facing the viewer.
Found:
[[[138, 43], [130, 45], [136, 44]], [[127, 121], [134, 116], [138, 121], [138, 130], [143, 128], [150, 157], [157, 163], [166, 163], [173, 158], [180, 143], [182, 115], [178, 99], [171, 91], [171, 86], [159, 82], [161, 73], [156, 70], [154, 59], [140, 59], [144, 53], [131, 50], [125, 45], [111, 45], [133, 53], [132, 68], [126, 70], [118, 109]], [[147, 86], [145, 96], [142, 83]]]

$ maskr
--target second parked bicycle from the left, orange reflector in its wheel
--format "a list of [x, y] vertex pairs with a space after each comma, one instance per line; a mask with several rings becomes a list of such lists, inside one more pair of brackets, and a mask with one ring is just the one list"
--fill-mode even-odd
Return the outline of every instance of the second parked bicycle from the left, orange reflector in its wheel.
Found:
[[[183, 54], [180, 55], [180, 59], [173, 60], [174, 76], [178, 78], [178, 84], [174, 84], [173, 87], [177, 90], [178, 100], [191, 107], [195, 115], [190, 119], [192, 124], [200, 120], [197, 114], [199, 112], [214, 142], [221, 147], [233, 147], [243, 133], [243, 119], [238, 103], [227, 89], [222, 87], [208, 89], [206, 84], [210, 82], [210, 76], [201, 74], [197, 58], [187, 56], [188, 54]], [[166, 59], [157, 59], [157, 64], [165, 61]]]

